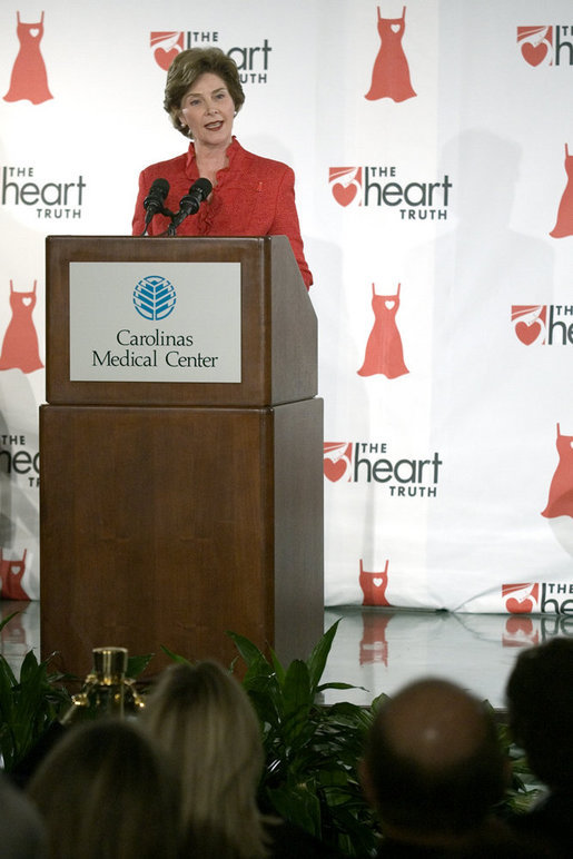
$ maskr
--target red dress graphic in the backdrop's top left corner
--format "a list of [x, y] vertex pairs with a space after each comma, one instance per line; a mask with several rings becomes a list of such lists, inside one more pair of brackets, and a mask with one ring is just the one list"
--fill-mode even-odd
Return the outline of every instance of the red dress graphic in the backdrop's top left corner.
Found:
[[40, 41], [43, 36], [43, 12], [38, 23], [22, 23], [20, 12], [17, 12], [18, 26], [16, 29], [20, 41], [20, 50], [14, 60], [10, 89], [4, 96], [4, 101], [23, 101], [28, 99], [32, 105], [41, 105], [42, 101], [53, 98], [48, 88], [48, 76]]

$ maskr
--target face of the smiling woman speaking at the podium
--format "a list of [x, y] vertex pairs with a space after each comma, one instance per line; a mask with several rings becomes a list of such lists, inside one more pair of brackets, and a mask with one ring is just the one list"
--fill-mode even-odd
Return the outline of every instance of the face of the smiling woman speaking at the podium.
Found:
[[196, 144], [227, 146], [233, 134], [235, 102], [223, 78], [208, 71], [192, 83], [181, 99], [179, 119], [191, 129]]

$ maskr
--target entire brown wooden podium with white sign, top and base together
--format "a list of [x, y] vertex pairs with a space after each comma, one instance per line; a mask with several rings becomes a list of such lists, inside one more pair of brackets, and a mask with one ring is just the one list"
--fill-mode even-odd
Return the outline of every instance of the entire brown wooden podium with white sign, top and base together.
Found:
[[285, 237], [49, 237], [42, 658], [85, 675], [120, 645], [156, 673], [166, 645], [228, 665], [227, 631], [306, 656], [324, 622], [316, 392]]

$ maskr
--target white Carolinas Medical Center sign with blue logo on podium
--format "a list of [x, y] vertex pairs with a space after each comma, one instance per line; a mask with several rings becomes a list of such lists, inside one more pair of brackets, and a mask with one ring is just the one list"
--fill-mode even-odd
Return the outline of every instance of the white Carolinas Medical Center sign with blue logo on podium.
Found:
[[239, 263], [70, 263], [71, 382], [241, 381]]

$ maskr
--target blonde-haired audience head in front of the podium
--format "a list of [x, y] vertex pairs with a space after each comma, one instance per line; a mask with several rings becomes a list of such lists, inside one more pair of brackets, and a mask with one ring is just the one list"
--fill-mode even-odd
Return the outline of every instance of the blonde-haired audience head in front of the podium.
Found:
[[264, 856], [256, 801], [263, 743], [239, 682], [217, 662], [174, 664], [149, 694], [141, 721], [178, 767], [191, 851]]

